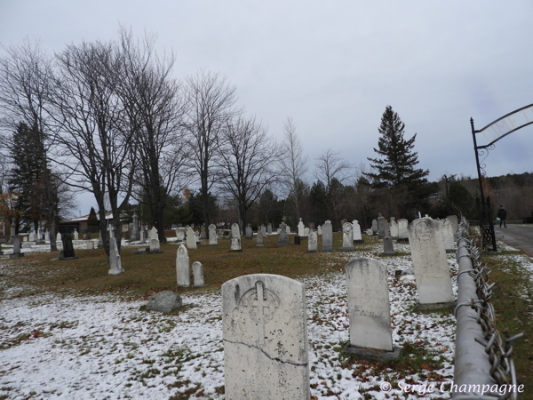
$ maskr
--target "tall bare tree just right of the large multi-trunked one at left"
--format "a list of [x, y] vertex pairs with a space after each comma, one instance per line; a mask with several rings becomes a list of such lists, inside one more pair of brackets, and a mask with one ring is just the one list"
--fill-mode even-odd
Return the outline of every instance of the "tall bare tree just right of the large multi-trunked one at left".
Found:
[[137, 148], [142, 160], [135, 175], [139, 188], [135, 196], [150, 207], [163, 243], [167, 197], [194, 179], [187, 167], [180, 84], [171, 78], [175, 57], [171, 54], [168, 59], [159, 58], [154, 51], [153, 36], [145, 36], [139, 45], [130, 32], [122, 29], [120, 34], [124, 57], [123, 74], [119, 77], [120, 96], [137, 131]]

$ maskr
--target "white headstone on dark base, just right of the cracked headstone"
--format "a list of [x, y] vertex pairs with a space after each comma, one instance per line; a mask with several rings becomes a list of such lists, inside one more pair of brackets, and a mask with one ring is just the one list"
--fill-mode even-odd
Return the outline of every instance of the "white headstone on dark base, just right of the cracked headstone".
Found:
[[345, 351], [358, 356], [369, 356], [365, 349], [378, 358], [400, 356], [400, 348], [393, 347], [391, 309], [386, 266], [378, 260], [355, 259], [346, 264], [346, 289], [350, 343]]

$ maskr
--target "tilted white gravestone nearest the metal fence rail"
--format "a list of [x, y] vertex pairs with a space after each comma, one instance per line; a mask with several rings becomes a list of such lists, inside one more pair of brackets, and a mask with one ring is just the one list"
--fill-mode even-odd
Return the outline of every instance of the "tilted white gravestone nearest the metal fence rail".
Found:
[[420, 304], [453, 302], [441, 223], [418, 218], [411, 222], [408, 231]]

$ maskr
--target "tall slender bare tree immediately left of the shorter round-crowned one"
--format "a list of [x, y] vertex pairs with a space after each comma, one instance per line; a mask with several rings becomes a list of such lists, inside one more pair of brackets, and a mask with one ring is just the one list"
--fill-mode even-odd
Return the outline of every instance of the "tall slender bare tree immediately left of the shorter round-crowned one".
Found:
[[191, 148], [192, 164], [200, 178], [203, 200], [203, 220], [210, 224], [208, 193], [219, 179], [218, 149], [223, 145], [222, 132], [232, 118], [240, 113], [235, 109], [235, 86], [225, 77], [200, 70], [186, 79], [187, 102], [185, 127]]

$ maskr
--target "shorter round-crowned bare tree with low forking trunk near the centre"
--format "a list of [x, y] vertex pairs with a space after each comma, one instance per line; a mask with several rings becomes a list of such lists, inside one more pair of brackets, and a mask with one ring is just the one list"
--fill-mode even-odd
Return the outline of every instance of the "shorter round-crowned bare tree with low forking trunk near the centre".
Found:
[[279, 146], [267, 136], [267, 128], [255, 117], [239, 116], [227, 123], [224, 145], [220, 148], [221, 185], [238, 204], [239, 217], [246, 226], [251, 205], [277, 179], [273, 160], [280, 156]]

